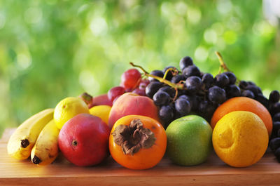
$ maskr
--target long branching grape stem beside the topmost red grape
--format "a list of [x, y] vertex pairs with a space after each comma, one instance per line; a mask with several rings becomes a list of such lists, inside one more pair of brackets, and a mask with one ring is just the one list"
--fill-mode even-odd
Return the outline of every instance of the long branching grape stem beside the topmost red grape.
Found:
[[167, 84], [169, 86], [171, 86], [172, 88], [175, 89], [176, 93], [175, 93], [175, 96], [173, 98], [173, 100], [175, 101], [176, 98], [177, 98], [177, 95], [178, 95], [178, 89], [180, 90], [183, 90], [183, 89], [186, 89], [183, 84], [179, 83], [179, 84], [174, 84], [172, 83], [171, 81], [168, 81], [167, 79], [165, 79], [167, 77], [167, 73], [169, 71], [172, 71], [172, 74], [178, 74], [178, 70], [177, 69], [174, 69], [174, 68], [169, 68], [167, 69], [167, 71], [165, 72], [165, 76], [162, 78], [162, 77], [157, 77], [153, 74], [149, 74], [143, 67], [141, 67], [140, 65], [135, 65], [133, 62], [130, 62], [130, 65], [132, 65], [132, 67], [137, 67], [139, 69], [141, 69], [143, 72], [144, 72], [144, 75], [146, 77], [152, 77], [154, 79], [158, 79], [158, 81], [160, 81], [161, 83], [164, 83], [164, 84]]

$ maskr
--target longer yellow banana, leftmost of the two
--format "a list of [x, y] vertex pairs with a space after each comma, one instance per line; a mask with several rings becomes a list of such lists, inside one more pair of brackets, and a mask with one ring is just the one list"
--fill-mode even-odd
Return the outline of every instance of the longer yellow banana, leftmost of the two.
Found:
[[53, 118], [54, 109], [44, 109], [24, 121], [8, 140], [7, 150], [15, 159], [27, 159], [43, 127]]

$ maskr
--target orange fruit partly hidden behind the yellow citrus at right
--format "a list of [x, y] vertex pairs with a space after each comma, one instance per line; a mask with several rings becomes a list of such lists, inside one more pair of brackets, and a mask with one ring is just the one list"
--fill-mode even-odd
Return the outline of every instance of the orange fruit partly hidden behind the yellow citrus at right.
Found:
[[265, 127], [267, 128], [268, 135], [272, 133], [272, 117], [269, 114], [267, 108], [263, 106], [260, 102], [246, 97], [236, 97], [231, 98], [220, 105], [213, 114], [211, 119], [211, 127], [214, 128], [216, 123], [223, 117], [225, 114], [228, 114], [232, 111], [248, 111], [253, 112], [262, 119]]

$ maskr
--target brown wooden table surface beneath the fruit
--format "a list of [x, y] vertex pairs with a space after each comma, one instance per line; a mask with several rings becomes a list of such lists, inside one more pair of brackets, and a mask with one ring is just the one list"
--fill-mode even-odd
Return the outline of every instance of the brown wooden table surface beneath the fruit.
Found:
[[176, 166], [164, 158], [145, 171], [118, 165], [111, 157], [104, 164], [78, 167], [60, 155], [49, 166], [36, 166], [29, 159], [18, 161], [6, 152], [14, 129], [7, 128], [0, 140], [0, 185], [280, 185], [280, 164], [266, 153], [255, 165], [232, 168], [216, 154], [199, 166]]

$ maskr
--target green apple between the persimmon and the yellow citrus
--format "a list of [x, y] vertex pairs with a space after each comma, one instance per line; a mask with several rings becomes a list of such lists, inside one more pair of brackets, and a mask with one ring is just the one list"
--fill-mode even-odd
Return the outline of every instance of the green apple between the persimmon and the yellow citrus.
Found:
[[167, 155], [175, 164], [201, 164], [213, 150], [212, 128], [200, 116], [188, 115], [176, 119], [169, 124], [166, 133]]

